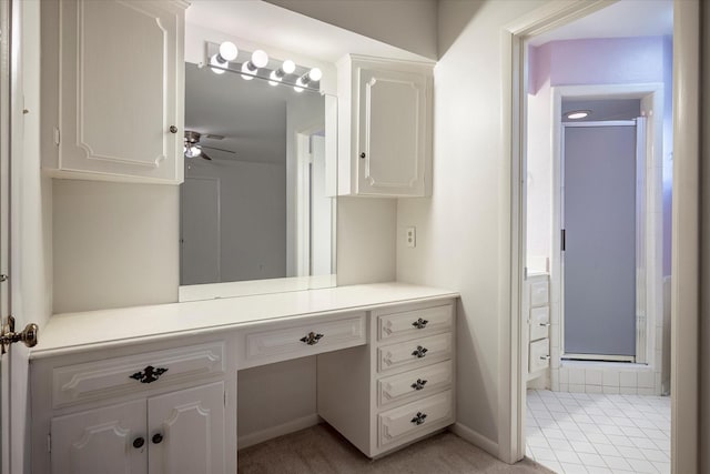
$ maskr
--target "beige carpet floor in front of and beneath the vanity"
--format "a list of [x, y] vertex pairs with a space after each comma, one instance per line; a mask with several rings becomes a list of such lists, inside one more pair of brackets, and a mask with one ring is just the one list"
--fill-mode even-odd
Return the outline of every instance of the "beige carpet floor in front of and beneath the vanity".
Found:
[[239, 452], [240, 474], [549, 474], [525, 458], [505, 464], [450, 432], [372, 461], [323, 423]]

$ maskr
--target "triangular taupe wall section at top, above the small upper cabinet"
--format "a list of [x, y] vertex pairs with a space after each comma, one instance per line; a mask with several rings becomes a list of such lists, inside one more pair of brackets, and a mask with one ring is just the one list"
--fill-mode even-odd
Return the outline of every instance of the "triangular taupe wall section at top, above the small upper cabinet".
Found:
[[266, 1], [425, 58], [437, 58], [436, 0]]

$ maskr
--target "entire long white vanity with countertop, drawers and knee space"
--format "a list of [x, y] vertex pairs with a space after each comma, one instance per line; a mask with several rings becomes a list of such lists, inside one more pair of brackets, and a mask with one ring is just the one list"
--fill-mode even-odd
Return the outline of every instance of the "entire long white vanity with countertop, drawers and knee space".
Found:
[[316, 355], [318, 414], [367, 456], [455, 421], [457, 294], [353, 285], [59, 314], [31, 351], [36, 473], [236, 472], [236, 374]]

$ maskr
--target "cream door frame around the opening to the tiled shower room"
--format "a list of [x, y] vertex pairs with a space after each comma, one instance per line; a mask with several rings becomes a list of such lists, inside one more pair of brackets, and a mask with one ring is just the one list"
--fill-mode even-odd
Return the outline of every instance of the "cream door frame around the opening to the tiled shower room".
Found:
[[[527, 39], [600, 10], [613, 1], [548, 2], [504, 27], [501, 148], [510, 157], [510, 319], [501, 321], [499, 457], [525, 456], [523, 279], [526, 219]], [[673, 1], [673, 224], [671, 284], [671, 468], [698, 472], [699, 460], [699, 125], [700, 1]]]

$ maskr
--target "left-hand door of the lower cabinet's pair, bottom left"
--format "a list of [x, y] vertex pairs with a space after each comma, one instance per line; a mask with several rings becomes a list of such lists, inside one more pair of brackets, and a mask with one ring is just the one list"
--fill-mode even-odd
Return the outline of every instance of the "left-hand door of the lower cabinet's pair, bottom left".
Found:
[[52, 418], [51, 463], [52, 474], [146, 474], [145, 401]]

